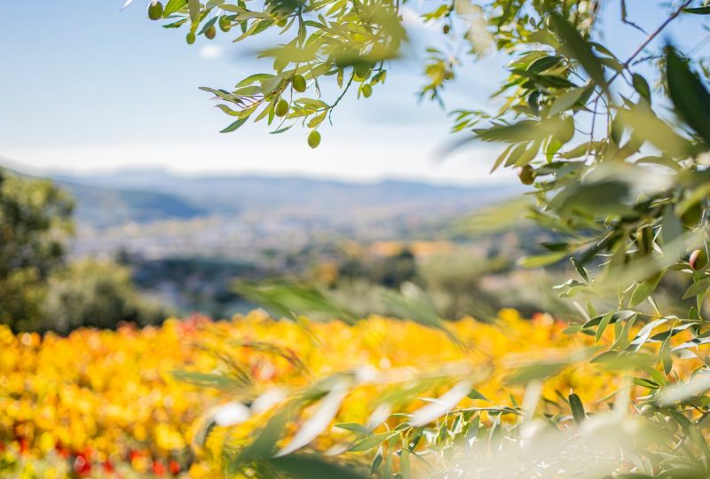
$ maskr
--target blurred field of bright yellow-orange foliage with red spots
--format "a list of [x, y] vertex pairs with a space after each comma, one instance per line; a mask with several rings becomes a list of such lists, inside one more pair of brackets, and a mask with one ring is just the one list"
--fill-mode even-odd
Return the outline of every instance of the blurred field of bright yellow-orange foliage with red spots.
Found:
[[[161, 327], [81, 329], [67, 337], [0, 326], [0, 473], [210, 476], [209, 462], [191, 444], [240, 444], [260, 425], [254, 416], [204, 430], [199, 419], [220, 402], [363, 366], [431, 373], [452, 363], [491, 372], [475, 388], [493, 404], [510, 404], [511, 393], [519, 400], [522, 391], [503, 384], [504, 372], [591, 343], [563, 334], [564, 324], [547, 315], [525, 320], [514, 310], [501, 311], [497, 324], [467, 318], [448, 327], [461, 344], [411, 321], [295, 323], [259, 311], [232, 321], [169, 319]], [[176, 371], [196, 375], [181, 381]], [[223, 377], [230, 381], [218, 381]], [[546, 381], [543, 394], [574, 389], [595, 399], [615, 388], [611, 375], [582, 365]], [[354, 389], [335, 422], [365, 422], [381, 393]], [[326, 449], [346, 434], [329, 428], [315, 444]]]

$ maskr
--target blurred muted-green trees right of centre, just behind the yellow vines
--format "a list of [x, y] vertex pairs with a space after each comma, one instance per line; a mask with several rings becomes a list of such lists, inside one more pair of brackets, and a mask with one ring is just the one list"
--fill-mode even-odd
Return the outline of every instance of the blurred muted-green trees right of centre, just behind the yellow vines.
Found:
[[440, 318], [493, 320], [503, 307], [525, 315], [545, 311], [560, 318], [575, 316], [552, 290], [563, 271], [517, 271], [513, 258], [533, 251], [524, 247], [528, 234], [517, 230], [507, 238], [496, 235], [473, 244], [445, 242], [442, 246], [451, 251], [431, 255], [413, 255], [402, 242], [402, 250], [392, 255], [346, 255], [335, 265], [320, 264], [310, 279], [360, 317], [396, 315], [383, 298], [406, 284], [419, 287]]

